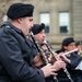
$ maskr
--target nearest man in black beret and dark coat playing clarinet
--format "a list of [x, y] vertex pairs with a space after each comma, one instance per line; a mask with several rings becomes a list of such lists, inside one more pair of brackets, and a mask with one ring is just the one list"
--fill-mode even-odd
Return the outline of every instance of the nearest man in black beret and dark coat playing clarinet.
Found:
[[56, 75], [50, 63], [40, 69], [32, 66], [37, 50], [26, 35], [33, 26], [33, 4], [20, 2], [8, 9], [9, 21], [0, 27], [0, 82], [45, 82]]

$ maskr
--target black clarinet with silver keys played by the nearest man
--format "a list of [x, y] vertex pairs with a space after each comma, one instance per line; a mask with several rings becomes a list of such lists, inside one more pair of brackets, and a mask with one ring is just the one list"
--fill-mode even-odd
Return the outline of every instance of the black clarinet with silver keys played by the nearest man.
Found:
[[[48, 60], [48, 58], [47, 58], [47, 56], [45, 55], [43, 48], [42, 48], [42, 47], [39, 46], [39, 44], [36, 42], [33, 32], [30, 32], [30, 36], [32, 37], [32, 39], [33, 39], [33, 42], [34, 42], [34, 44], [35, 44], [35, 47], [36, 47], [36, 49], [38, 50], [38, 52], [40, 54], [40, 56], [42, 56], [44, 62], [45, 62], [46, 65], [50, 63], [49, 60]], [[54, 82], [58, 82], [56, 75], [54, 75], [52, 79], [54, 79]]]

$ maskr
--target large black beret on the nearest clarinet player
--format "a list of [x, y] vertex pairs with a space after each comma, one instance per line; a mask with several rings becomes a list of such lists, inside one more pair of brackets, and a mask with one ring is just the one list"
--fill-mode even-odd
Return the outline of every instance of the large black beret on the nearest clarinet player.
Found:
[[34, 5], [24, 3], [13, 3], [10, 5], [7, 15], [11, 20], [19, 17], [33, 16]]

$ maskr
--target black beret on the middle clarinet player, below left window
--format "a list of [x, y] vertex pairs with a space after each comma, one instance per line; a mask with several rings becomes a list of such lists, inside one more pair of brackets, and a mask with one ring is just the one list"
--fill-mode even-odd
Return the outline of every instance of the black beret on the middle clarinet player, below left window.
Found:
[[34, 26], [32, 27], [32, 32], [35, 35], [35, 34], [38, 34], [39, 32], [42, 32], [44, 28], [45, 28], [44, 23], [42, 23], [40, 25], [39, 24], [34, 24]]

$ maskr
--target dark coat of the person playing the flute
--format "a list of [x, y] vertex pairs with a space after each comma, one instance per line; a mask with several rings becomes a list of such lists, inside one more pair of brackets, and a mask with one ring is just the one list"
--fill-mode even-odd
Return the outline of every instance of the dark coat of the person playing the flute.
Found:
[[[79, 65], [82, 58], [75, 52], [72, 52], [70, 56], [67, 56], [67, 58], [71, 60], [71, 65], [69, 65], [68, 62], [66, 63], [67, 63], [67, 70], [70, 73], [72, 80], [74, 82], [82, 82], [81, 77], [79, 75], [79, 70], [75, 70], [75, 67]], [[59, 82], [70, 82], [62, 69], [58, 71], [58, 80]]]

